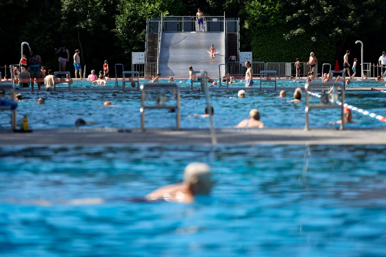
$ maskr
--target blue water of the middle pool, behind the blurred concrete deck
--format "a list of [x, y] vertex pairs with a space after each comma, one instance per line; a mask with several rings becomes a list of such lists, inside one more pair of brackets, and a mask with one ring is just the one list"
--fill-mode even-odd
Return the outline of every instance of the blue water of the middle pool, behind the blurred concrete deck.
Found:
[[[112, 94], [117, 96], [112, 96]], [[150, 102], [155, 104], [156, 91], [150, 92]], [[17, 108], [18, 125], [22, 124], [23, 115], [27, 115], [29, 127], [71, 128], [78, 118], [96, 122], [94, 127], [140, 128], [141, 127], [141, 93], [138, 91], [22, 91], [23, 100]], [[293, 90], [287, 90], [287, 98], [278, 98], [279, 91], [247, 91], [245, 98], [237, 98], [237, 90], [210, 91], [214, 107], [213, 120], [217, 128], [231, 128], [241, 120], [248, 118], [252, 108], [258, 108], [261, 121], [267, 128], [300, 128], [305, 125], [305, 101], [289, 102]], [[46, 98], [45, 105], [37, 105], [38, 97]], [[7, 97], [7, 95], [6, 95]], [[167, 93], [168, 100], [172, 98]], [[303, 98], [305, 99], [305, 92]], [[110, 101], [116, 107], [103, 106]], [[317, 98], [313, 101], [318, 103]], [[385, 93], [379, 91], [346, 91], [346, 103], [378, 115], [386, 116]], [[181, 128], [208, 128], [209, 119], [203, 117], [206, 107], [205, 95], [198, 91], [181, 91]], [[10, 128], [10, 112], [0, 112], [0, 127]], [[311, 127], [338, 127], [330, 125], [340, 120], [337, 109], [311, 110]], [[347, 127], [385, 127], [368, 115], [353, 111], [353, 120], [358, 123], [347, 124]], [[176, 114], [168, 110], [146, 110], [147, 128], [175, 128]]]

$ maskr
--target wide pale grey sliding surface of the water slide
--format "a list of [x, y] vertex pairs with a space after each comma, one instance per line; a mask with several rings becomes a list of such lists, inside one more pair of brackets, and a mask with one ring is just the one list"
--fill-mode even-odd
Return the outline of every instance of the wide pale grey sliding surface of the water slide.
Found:
[[[209, 54], [215, 46], [216, 57]], [[207, 71], [209, 78], [218, 78], [218, 64], [224, 63], [225, 44], [223, 32], [164, 32], [159, 53], [158, 70], [161, 77], [188, 78], [188, 67]], [[225, 74], [222, 65], [221, 74]]]

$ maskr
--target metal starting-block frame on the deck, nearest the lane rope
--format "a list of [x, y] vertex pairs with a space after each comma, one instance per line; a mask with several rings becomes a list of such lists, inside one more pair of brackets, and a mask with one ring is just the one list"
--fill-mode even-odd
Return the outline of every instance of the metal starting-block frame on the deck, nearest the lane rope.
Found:
[[[310, 94], [308, 91], [311, 93], [315, 88], [328, 88], [329, 86], [335, 86], [335, 87], [340, 87], [341, 91], [341, 96], [342, 96], [342, 104], [339, 105], [336, 102], [332, 102], [327, 100], [327, 98], [321, 98], [320, 103], [311, 105], [310, 104]], [[310, 117], [309, 117], [309, 112], [311, 109], [329, 109], [329, 108], [337, 108], [340, 109], [340, 116], [342, 119], [342, 123], [340, 124], [340, 130], [344, 130], [345, 127], [345, 121], [344, 121], [344, 98], [345, 98], [345, 90], [344, 90], [344, 84], [342, 82], [326, 82], [326, 83], [321, 83], [321, 82], [315, 82], [311, 81], [310, 83], [306, 83], [305, 85], [305, 91], [306, 91], [306, 107], [305, 107], [305, 113], [306, 113], [306, 121], [305, 121], [305, 130], [310, 130]], [[330, 94], [326, 94], [329, 96]], [[324, 100], [324, 102], [322, 102]]]

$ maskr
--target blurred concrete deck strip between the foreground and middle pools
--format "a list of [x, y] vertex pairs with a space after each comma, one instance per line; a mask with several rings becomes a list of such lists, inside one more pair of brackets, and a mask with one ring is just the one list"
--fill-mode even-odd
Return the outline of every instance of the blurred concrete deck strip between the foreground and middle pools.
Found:
[[[361, 145], [386, 144], [386, 129], [217, 128], [218, 144]], [[0, 130], [0, 146], [49, 145], [210, 145], [209, 129], [58, 128], [18, 133]]]

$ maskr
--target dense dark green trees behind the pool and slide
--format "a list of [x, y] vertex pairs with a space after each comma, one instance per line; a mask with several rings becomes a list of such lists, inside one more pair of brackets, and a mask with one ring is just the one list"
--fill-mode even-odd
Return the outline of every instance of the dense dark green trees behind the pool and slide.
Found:
[[359, 52], [356, 40], [364, 42], [367, 62], [386, 50], [384, 0], [7, 0], [0, 2], [0, 66], [19, 63], [26, 41], [46, 68], [57, 69], [53, 49], [61, 42], [72, 73], [75, 49], [87, 72], [102, 69], [105, 59], [110, 67], [130, 67], [131, 52], [145, 49], [146, 18], [191, 16], [197, 7], [207, 16], [239, 17], [240, 50], [253, 51], [254, 61], [306, 61], [313, 51], [320, 62], [334, 63], [346, 49]]

